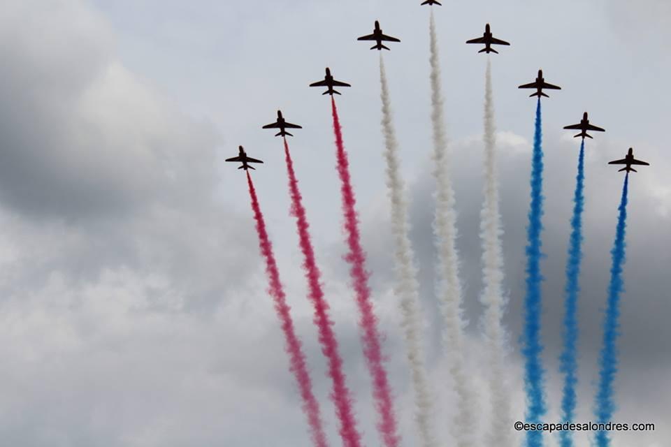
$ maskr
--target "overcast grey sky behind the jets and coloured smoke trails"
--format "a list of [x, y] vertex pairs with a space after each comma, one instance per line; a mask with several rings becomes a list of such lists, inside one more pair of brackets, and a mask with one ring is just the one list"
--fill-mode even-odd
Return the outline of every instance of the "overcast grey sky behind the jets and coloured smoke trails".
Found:
[[[37, 446], [307, 446], [243, 173], [254, 172], [332, 446], [330, 383], [297, 267], [277, 108], [290, 140], [327, 299], [367, 446], [380, 444], [340, 230], [328, 98], [308, 84], [330, 66], [350, 82], [338, 106], [363, 245], [404, 446], [416, 445], [398, 301], [392, 293], [374, 20], [401, 38], [384, 54], [411, 200], [427, 362], [442, 420], [453, 412], [433, 294], [428, 14], [419, 0], [5, 0], [0, 4], [0, 439]], [[665, 0], [443, 2], [435, 7], [459, 210], [468, 362], [479, 388], [479, 208], [486, 22], [510, 41], [491, 57], [510, 298], [508, 374], [523, 419], [519, 334], [535, 101], [516, 87], [543, 68], [546, 213], [542, 342], [548, 420], [558, 420], [564, 265], [579, 141], [561, 128], [588, 111], [605, 134], [586, 147], [579, 301], [579, 421], [592, 420], [609, 249], [634, 147], [616, 420], [656, 423], [614, 446], [671, 439], [671, 159]], [[449, 359], [448, 359], [449, 360]], [[482, 424], [489, 418], [479, 393]], [[554, 437], [547, 437], [556, 445]], [[587, 438], [579, 438], [588, 445]]]

